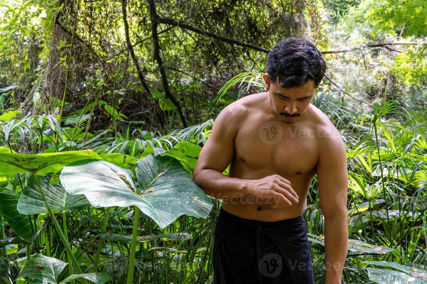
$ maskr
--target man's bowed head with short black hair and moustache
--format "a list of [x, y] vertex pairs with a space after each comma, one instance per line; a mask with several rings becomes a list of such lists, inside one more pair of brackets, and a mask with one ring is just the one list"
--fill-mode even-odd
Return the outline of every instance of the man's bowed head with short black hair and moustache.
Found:
[[322, 54], [307, 40], [290, 37], [270, 50], [263, 79], [282, 122], [294, 123], [304, 114], [325, 71]]

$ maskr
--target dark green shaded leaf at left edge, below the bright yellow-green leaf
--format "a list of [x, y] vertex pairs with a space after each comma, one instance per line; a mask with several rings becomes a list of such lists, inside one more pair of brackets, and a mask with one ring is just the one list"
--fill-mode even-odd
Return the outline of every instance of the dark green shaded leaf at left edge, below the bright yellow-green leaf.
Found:
[[20, 214], [16, 209], [18, 195], [12, 194], [10, 190], [0, 192], [0, 214], [9, 223], [10, 227], [26, 241], [31, 241], [32, 231], [27, 215]]

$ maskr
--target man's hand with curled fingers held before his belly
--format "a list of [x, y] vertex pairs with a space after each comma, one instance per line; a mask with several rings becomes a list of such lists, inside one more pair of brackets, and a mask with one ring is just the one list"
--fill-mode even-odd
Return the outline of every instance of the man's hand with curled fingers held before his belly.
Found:
[[257, 205], [271, 198], [275, 201], [284, 201], [287, 205], [292, 205], [292, 202], [298, 203], [298, 195], [292, 189], [290, 181], [280, 175], [269, 175], [252, 181], [243, 194], [254, 196]]

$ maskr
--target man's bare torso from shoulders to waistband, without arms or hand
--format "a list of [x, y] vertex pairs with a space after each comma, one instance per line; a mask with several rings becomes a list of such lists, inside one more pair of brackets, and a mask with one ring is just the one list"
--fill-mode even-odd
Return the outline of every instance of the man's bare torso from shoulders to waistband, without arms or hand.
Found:
[[[310, 104], [292, 124], [279, 120], [269, 105], [268, 93], [249, 95], [237, 100], [243, 115], [234, 138], [234, 157], [229, 177], [260, 179], [278, 174], [290, 181], [298, 194], [292, 206], [273, 198], [265, 204], [238, 199], [222, 208], [241, 218], [279, 221], [300, 216], [307, 205], [307, 193], [319, 159], [319, 139], [324, 130], [334, 128], [326, 115]], [[267, 204], [268, 203], [268, 204]]]

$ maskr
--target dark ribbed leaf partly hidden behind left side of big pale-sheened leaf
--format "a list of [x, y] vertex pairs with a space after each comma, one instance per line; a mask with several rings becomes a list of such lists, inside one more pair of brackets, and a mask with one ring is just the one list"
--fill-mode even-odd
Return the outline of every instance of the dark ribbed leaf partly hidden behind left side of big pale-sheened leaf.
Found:
[[[80, 210], [91, 205], [85, 195], [70, 195], [61, 184], [50, 184], [50, 175], [38, 177], [47, 202], [53, 210]], [[30, 176], [27, 185], [19, 197], [17, 209], [26, 215], [47, 212], [34, 176]]]

